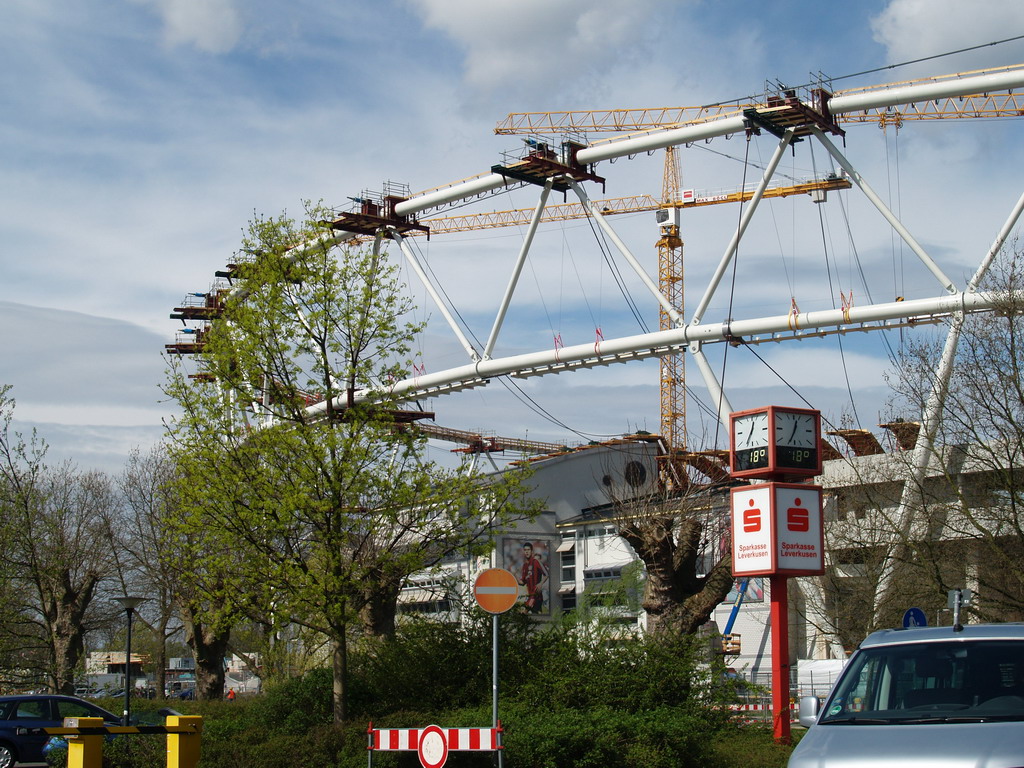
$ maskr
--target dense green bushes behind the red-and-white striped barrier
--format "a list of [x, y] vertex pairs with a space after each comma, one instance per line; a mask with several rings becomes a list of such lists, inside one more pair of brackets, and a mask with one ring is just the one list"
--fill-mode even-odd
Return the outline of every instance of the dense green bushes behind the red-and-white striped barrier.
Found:
[[[507, 768], [779, 768], [790, 750], [765, 728], [739, 728], [718, 705], [732, 695], [691, 638], [662, 643], [592, 623], [538, 632], [530, 618], [500, 623], [501, 711]], [[492, 624], [407, 622], [390, 640], [355, 646], [350, 722], [335, 727], [332, 675], [267, 684], [233, 702], [175, 701], [203, 715], [202, 768], [364, 768], [367, 723], [411, 728], [486, 727], [492, 722]], [[718, 681], [712, 685], [711, 681]], [[166, 701], [133, 712], [161, 722]], [[144, 736], [162, 746], [162, 739]], [[127, 739], [118, 739], [118, 741]], [[120, 749], [120, 746], [119, 746]], [[153, 754], [151, 754], [151, 752]], [[131, 760], [108, 751], [106, 768], [158, 768], [162, 750]], [[120, 762], [118, 762], [120, 761]], [[453, 753], [449, 768], [493, 768], [492, 753]], [[418, 768], [415, 753], [375, 753], [374, 768]]]

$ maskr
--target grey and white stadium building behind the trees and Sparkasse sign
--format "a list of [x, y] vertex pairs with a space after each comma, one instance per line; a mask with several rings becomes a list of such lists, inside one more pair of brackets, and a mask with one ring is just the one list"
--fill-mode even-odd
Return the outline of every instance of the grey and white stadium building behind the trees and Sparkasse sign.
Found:
[[[916, 425], [898, 422], [885, 426], [888, 432], [881, 440], [862, 430], [839, 430], [829, 435], [831, 441], [845, 443], [844, 453], [848, 455], [829, 445], [829, 455], [841, 458], [826, 461], [822, 475], [815, 478], [824, 488], [826, 575], [790, 580], [790, 650], [798, 669], [800, 660], [842, 663], [865, 631], [866, 625], [844, 626], [845, 620], [841, 621], [835, 611], [845, 585], [864, 579], [865, 568], [857, 561], [850, 543], [873, 541], [870, 537], [884, 531], [887, 521], [891, 525], [901, 501], [901, 478], [906, 476]], [[412, 580], [399, 598], [399, 610], [456, 620], [460, 609], [456, 582], [471, 584], [475, 574], [486, 567], [505, 567], [521, 578], [526, 543], [548, 574], [543, 606], [538, 611], [542, 618], [555, 617], [584, 600], [595, 599], [608, 582], [620, 579], [634, 564], [638, 566], [636, 578], [642, 579], [642, 565], [618, 536], [615, 518], [622, 513], [622, 502], [658, 493], [658, 457], [663, 453], [656, 437], [636, 435], [534, 460], [532, 496], [544, 500], [545, 510], [538, 519], [497, 537], [489, 558], [453, 561], [443, 572]], [[950, 488], [983, 485], [986, 472], [991, 469], [984, 462], [971, 460], [963, 449], [940, 454], [930, 466], [925, 483], [931, 513], [941, 509], [946, 518], [957, 514], [957, 499], [962, 497], [952, 498], [955, 494]], [[967, 498], [979, 505], [979, 510], [991, 502], [977, 493]], [[720, 513], [722, 519], [727, 518], [727, 485], [709, 499], [709, 509], [713, 515]], [[895, 536], [891, 534], [890, 544]], [[710, 565], [717, 556], [717, 552], [709, 551], [706, 561]], [[964, 568], [968, 574], [978, 572], [971, 563], [964, 564]], [[970, 580], [962, 586], [977, 590], [977, 584]], [[734, 597], [735, 593], [714, 611], [709, 628], [713, 634], [726, 627]], [[769, 600], [768, 580], [752, 579], [732, 630], [740, 638], [739, 653], [726, 656], [729, 667], [766, 685], [771, 671]], [[617, 615], [624, 626], [642, 629], [645, 615], [636, 601], [631, 602], [616, 606]], [[934, 606], [922, 607], [936, 615]], [[814, 688], [821, 687], [822, 679], [830, 681], [837, 669], [835, 663], [804, 667], [808, 685]]]

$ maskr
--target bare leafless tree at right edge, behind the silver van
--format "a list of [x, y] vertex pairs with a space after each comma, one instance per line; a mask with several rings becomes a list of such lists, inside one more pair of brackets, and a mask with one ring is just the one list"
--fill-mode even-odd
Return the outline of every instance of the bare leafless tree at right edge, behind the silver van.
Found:
[[[898, 626], [910, 606], [949, 621], [953, 589], [976, 595], [965, 617], [1024, 618], [1021, 254], [1004, 254], [983, 288], [1004, 301], [993, 313], [953, 321], [963, 326], [948, 383], [937, 374], [940, 340], [907, 343], [894, 360], [894, 413], [940, 403], [927, 464], [904, 440], [885, 455], [849, 459], [847, 476], [828, 490], [829, 567], [809, 612], [847, 648]], [[912, 433], [916, 424], [905, 426]]]

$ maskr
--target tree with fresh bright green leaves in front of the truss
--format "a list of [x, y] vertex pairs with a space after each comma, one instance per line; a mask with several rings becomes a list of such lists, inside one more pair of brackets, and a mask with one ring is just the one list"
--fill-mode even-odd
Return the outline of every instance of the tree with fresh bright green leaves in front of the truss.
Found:
[[518, 514], [519, 482], [426, 461], [417, 414], [389, 390], [421, 330], [396, 267], [333, 248], [325, 218], [250, 225], [200, 384], [175, 366], [168, 391], [182, 409], [175, 534], [205, 541], [197, 583], [252, 620], [323, 634], [342, 721], [350, 630], [392, 633], [404, 580], [483, 546]]

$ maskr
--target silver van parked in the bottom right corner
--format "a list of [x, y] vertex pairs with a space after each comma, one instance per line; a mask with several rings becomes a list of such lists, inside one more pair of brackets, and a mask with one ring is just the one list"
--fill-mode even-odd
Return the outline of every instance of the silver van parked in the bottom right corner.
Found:
[[876, 632], [800, 724], [790, 768], [1022, 768], [1024, 624]]

